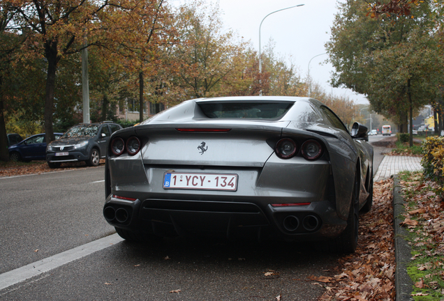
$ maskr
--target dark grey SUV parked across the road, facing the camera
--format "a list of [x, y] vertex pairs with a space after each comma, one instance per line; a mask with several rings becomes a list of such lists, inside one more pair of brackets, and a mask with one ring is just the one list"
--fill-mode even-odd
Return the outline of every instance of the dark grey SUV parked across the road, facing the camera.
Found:
[[47, 146], [46, 162], [50, 168], [60, 167], [61, 162], [77, 161], [98, 166], [106, 155], [111, 134], [120, 129], [120, 125], [110, 121], [74, 125]]

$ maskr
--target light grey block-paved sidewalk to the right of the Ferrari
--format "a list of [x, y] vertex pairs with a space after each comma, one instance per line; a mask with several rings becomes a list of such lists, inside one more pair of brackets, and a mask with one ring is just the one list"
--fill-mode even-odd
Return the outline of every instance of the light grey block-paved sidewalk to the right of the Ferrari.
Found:
[[373, 181], [377, 182], [378, 180], [390, 178], [390, 176], [394, 176], [399, 171], [419, 171], [421, 169], [420, 157], [386, 155], [383, 161], [380, 162]]

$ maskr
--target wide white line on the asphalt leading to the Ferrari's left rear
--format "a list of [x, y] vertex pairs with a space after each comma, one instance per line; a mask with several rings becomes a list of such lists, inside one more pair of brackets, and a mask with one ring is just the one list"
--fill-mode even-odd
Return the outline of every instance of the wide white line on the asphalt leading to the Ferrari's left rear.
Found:
[[53, 270], [54, 268], [59, 268], [59, 266], [70, 263], [71, 261], [88, 256], [107, 247], [111, 247], [123, 240], [124, 239], [116, 233], [95, 240], [94, 242], [89, 242], [86, 245], [81, 245], [80, 247], [75, 247], [74, 249], [42, 259], [41, 261], [24, 265], [22, 268], [10, 270], [9, 272], [0, 275], [0, 291], [3, 288], [7, 288], [31, 277], [36, 277], [44, 272]]

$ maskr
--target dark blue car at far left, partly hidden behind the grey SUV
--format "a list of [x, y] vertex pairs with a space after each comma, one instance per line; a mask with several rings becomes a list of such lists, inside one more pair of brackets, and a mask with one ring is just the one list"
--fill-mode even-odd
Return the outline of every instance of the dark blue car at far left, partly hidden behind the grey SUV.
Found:
[[[56, 139], [59, 139], [63, 133], [54, 133]], [[31, 161], [45, 160], [46, 141], [45, 134], [36, 134], [24, 139], [18, 144], [8, 147], [10, 160], [13, 161]]]

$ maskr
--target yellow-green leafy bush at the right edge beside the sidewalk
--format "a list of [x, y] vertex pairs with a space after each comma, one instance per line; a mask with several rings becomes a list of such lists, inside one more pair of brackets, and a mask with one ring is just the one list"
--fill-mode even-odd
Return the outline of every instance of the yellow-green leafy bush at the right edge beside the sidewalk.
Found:
[[424, 178], [434, 180], [443, 190], [444, 185], [444, 137], [428, 137], [422, 143]]

